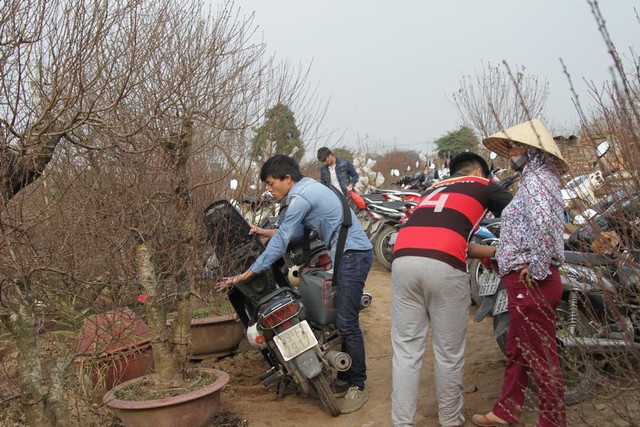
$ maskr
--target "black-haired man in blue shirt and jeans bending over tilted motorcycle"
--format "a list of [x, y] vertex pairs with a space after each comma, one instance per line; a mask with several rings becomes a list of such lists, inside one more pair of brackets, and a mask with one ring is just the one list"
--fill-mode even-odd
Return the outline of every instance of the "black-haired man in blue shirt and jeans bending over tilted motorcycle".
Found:
[[[267, 183], [276, 200], [286, 198], [284, 219], [275, 232], [269, 233], [272, 235], [266, 249], [249, 269], [237, 276], [223, 278], [216, 287], [217, 291], [267, 270], [285, 253], [294, 237], [301, 237], [303, 228], [318, 232], [335, 262], [338, 235], [343, 222], [343, 205], [336, 193], [315, 179], [304, 177], [292, 157], [280, 154], [262, 165], [260, 180]], [[347, 231], [339, 271], [333, 272], [337, 282], [336, 326], [342, 336], [342, 350], [349, 354], [352, 361], [351, 368], [339, 372], [333, 385], [335, 392], [342, 392], [336, 394], [344, 396], [340, 408], [343, 414], [357, 411], [367, 401], [366, 356], [358, 316], [365, 280], [373, 263], [373, 246], [355, 214], [351, 210], [349, 213], [352, 225]], [[260, 234], [260, 230], [252, 229], [252, 232]]]

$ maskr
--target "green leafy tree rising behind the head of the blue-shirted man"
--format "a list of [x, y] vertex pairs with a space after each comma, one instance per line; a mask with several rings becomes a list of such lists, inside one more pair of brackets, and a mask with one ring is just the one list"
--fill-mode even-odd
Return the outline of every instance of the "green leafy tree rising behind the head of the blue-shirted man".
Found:
[[[293, 112], [286, 105], [277, 104], [267, 110], [265, 119], [262, 126], [256, 129], [253, 152], [258, 157], [265, 151], [269, 155], [286, 154], [299, 162], [304, 156], [304, 143], [300, 139]], [[275, 144], [275, 147], [270, 144]]]

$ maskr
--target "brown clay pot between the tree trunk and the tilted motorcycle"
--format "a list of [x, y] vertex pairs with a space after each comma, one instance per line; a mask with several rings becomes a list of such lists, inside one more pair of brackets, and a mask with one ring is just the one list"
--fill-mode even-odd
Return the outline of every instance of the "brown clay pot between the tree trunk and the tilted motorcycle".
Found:
[[244, 326], [236, 316], [191, 319], [191, 360], [231, 354], [244, 337]]

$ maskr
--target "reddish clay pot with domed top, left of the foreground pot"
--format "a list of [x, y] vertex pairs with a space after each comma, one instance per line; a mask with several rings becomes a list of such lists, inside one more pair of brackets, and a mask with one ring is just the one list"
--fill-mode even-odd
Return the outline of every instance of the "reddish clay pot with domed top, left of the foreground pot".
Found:
[[74, 363], [81, 378], [89, 378], [98, 401], [114, 385], [151, 372], [151, 331], [125, 308], [86, 318], [78, 336]]

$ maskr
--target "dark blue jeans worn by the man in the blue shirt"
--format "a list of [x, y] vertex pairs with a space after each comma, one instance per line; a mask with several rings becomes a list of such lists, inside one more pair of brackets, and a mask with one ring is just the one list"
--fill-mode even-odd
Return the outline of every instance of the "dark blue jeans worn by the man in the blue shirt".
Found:
[[373, 251], [346, 251], [340, 260], [336, 288], [336, 326], [342, 336], [342, 351], [351, 356], [351, 368], [338, 372], [338, 379], [364, 390], [367, 364], [360, 329], [360, 300], [373, 264]]

